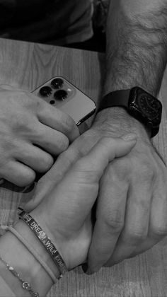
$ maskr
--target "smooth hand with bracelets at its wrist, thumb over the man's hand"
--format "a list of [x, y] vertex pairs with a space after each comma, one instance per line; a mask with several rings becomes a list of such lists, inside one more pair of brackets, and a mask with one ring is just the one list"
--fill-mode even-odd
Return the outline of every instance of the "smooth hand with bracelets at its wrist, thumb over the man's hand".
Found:
[[109, 162], [131, 151], [136, 143], [135, 134], [132, 136], [134, 139], [129, 141], [98, 141], [30, 213], [55, 242], [68, 269], [86, 261], [93, 231], [91, 209], [98, 196], [100, 177]]

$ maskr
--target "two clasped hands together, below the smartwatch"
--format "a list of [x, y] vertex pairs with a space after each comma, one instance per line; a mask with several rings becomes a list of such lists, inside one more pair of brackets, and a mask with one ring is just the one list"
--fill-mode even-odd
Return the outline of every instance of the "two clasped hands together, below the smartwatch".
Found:
[[166, 165], [144, 127], [136, 130], [135, 145], [115, 138], [122, 133], [118, 128], [93, 124], [59, 155], [27, 205], [59, 241], [69, 269], [82, 262], [88, 262], [91, 272], [110, 267], [167, 234]]

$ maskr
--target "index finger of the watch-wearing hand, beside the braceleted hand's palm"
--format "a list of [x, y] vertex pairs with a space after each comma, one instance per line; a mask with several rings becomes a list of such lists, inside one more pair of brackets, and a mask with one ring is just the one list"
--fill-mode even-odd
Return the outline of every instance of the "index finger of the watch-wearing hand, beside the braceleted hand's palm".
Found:
[[97, 272], [113, 254], [124, 226], [127, 191], [127, 182], [120, 181], [113, 168], [108, 168], [100, 182], [96, 223], [88, 251], [88, 267], [92, 273]]

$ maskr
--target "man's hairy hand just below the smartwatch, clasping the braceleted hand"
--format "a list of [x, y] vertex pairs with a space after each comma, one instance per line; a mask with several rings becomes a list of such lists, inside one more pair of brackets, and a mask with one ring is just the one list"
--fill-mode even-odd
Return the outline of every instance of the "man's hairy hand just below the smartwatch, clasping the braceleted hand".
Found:
[[[91, 129], [64, 151], [38, 182], [27, 209], [34, 209], [77, 158], [85, 155], [103, 136], [137, 134], [137, 144], [108, 165], [100, 181], [96, 223], [88, 252], [91, 272], [144, 252], [167, 234], [167, 170], [151, 144], [145, 128], [127, 112], [100, 112]], [[107, 120], [108, 115], [113, 124]], [[112, 113], [112, 115], [111, 115]], [[106, 119], [104, 121], [104, 118]]]

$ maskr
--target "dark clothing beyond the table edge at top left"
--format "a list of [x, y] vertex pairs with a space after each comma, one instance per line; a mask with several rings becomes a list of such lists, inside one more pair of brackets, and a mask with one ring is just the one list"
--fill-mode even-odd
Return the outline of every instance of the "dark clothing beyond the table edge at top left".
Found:
[[64, 45], [93, 35], [90, 0], [0, 0], [0, 36]]

